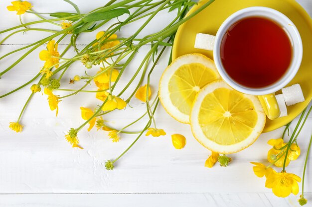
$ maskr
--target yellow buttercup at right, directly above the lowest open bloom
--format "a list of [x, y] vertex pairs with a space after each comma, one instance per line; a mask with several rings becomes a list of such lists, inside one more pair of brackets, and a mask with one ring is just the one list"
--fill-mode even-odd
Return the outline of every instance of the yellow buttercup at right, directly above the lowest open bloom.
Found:
[[[279, 149], [281, 147], [284, 147], [286, 143], [284, 143], [284, 140], [282, 138], [278, 138], [278, 139], [270, 139], [268, 141], [268, 144], [273, 146], [273, 148], [268, 151], [268, 161], [271, 163], [275, 162], [274, 165], [277, 167], [283, 167], [286, 156], [285, 150], [287, 150], [287, 147], [283, 148], [282, 150]], [[285, 166], [288, 166], [291, 160], [297, 159], [301, 152], [300, 147], [297, 146], [295, 143], [293, 143], [290, 148], [291, 149], [288, 150]]]

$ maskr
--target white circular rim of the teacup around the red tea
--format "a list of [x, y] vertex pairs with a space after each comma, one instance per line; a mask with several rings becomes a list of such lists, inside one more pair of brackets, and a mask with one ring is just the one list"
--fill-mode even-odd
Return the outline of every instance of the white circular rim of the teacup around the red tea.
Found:
[[[261, 14], [255, 14], [258, 12], [261, 12]], [[292, 62], [288, 71], [277, 82], [263, 88], [247, 87], [233, 80], [223, 68], [220, 57], [220, 45], [228, 27], [233, 25], [238, 20], [249, 16], [263, 16], [279, 23], [281, 26], [283, 26], [283, 28], [285, 28], [291, 42], [293, 43]], [[275, 18], [273, 18], [273, 16]], [[295, 56], [296, 59], [294, 58]], [[274, 93], [285, 87], [295, 77], [297, 71], [299, 70], [302, 62], [302, 57], [303, 57], [302, 39], [295, 24], [285, 14], [281, 13], [280, 11], [264, 6], [252, 6], [243, 8], [230, 15], [218, 29], [213, 49], [214, 62], [222, 79], [225, 80], [225, 82], [227, 82], [235, 90], [250, 95], [266, 95]]]

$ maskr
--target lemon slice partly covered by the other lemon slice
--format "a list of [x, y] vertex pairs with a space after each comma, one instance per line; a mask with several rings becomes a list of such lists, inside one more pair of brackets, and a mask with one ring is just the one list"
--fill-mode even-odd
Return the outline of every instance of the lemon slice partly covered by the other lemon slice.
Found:
[[206, 84], [220, 79], [212, 60], [201, 54], [175, 59], [162, 73], [159, 99], [174, 119], [189, 124], [189, 115], [197, 92]]

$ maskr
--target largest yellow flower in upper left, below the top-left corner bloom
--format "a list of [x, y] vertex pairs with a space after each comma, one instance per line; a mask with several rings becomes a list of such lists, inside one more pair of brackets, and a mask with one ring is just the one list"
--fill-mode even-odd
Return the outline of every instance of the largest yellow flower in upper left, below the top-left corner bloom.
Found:
[[50, 69], [54, 65], [56, 69], [58, 68], [59, 59], [54, 58], [60, 57], [60, 54], [57, 52], [57, 46], [58, 44], [55, 43], [55, 40], [50, 40], [46, 46], [47, 50], [42, 50], [39, 53], [40, 60], [45, 61], [43, 68]]

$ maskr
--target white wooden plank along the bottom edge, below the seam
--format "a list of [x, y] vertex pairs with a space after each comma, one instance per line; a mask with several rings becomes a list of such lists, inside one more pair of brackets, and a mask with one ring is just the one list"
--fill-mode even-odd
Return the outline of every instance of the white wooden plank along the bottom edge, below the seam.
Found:
[[[311, 198], [312, 194], [306, 196]], [[0, 195], [3, 207], [288, 207], [289, 204], [300, 207], [295, 197], [283, 199], [262, 193]]]

